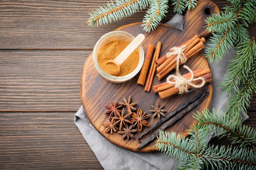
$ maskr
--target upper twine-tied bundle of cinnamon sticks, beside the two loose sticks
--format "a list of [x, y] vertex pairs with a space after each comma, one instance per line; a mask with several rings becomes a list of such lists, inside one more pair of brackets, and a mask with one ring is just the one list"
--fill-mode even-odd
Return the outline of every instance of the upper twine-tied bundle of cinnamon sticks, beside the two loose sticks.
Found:
[[[181, 47], [183, 45], [186, 46], [186, 49], [183, 51], [184, 55], [187, 59], [198, 53], [204, 48], [204, 38], [200, 38], [200, 35], [195, 35], [190, 40], [187, 40], [186, 42], [180, 44], [177, 47]], [[172, 52], [172, 51], [169, 51]], [[176, 67], [176, 61], [177, 56], [171, 55], [170, 57], [167, 57], [167, 55], [163, 55], [162, 57], [159, 57], [155, 63], [156, 63], [156, 71], [157, 71], [157, 78], [161, 80], [166, 76], [170, 71], [172, 71]]]

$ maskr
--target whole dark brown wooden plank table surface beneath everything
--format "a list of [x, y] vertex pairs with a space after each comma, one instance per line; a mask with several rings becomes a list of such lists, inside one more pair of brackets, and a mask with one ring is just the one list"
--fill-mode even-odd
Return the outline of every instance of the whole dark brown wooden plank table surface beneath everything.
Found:
[[[225, 0], [213, 0], [221, 9]], [[106, 0], [0, 1], [0, 169], [90, 169], [101, 164], [74, 124], [83, 64], [111, 25], [87, 25]], [[170, 7], [167, 22], [173, 17]], [[256, 25], [250, 25], [251, 36]], [[256, 95], [244, 124], [256, 128]], [[228, 144], [227, 139], [210, 141]]]

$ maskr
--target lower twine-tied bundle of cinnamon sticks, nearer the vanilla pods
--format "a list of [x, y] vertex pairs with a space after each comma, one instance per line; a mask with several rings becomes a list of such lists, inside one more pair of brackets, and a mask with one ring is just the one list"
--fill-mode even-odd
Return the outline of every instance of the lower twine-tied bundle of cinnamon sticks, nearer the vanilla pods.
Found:
[[[211, 82], [211, 71], [210, 69], [205, 69], [203, 70], [202, 68], [196, 69], [195, 71], [193, 71], [193, 75], [194, 78], [197, 77], [202, 77], [205, 80], [205, 83], [207, 82]], [[191, 78], [191, 73], [186, 73], [184, 75], [182, 75], [182, 77], [186, 78], [186, 79], [190, 79]], [[174, 81], [174, 80], [172, 80]], [[202, 81], [198, 80], [193, 82], [193, 84], [200, 84]], [[192, 88], [192, 87], [189, 87]], [[155, 86], [152, 87], [153, 92], [154, 93], [158, 93], [159, 97], [161, 99], [170, 97], [172, 95], [175, 95], [177, 93], [179, 93], [179, 89], [175, 88], [174, 84], [169, 84], [168, 82], [164, 82], [161, 84], [157, 84]]]

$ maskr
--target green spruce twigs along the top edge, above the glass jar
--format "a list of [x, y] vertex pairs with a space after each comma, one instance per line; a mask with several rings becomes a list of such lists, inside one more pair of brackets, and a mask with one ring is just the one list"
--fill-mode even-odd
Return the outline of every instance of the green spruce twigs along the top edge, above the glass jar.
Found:
[[[186, 8], [194, 9], [197, 5], [197, 0], [172, 0], [174, 11], [183, 13]], [[111, 0], [103, 7], [89, 13], [91, 16], [88, 19], [88, 25], [101, 26], [109, 24], [112, 21], [117, 21], [127, 16], [135, 14], [139, 10], [148, 8], [141, 26], [144, 26], [144, 31], [153, 31], [166, 16], [168, 12], [168, 0]]]

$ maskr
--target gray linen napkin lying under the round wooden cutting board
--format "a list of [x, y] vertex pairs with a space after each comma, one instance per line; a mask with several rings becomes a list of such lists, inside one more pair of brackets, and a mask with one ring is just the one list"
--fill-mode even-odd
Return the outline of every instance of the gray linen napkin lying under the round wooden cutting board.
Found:
[[[183, 21], [183, 16], [176, 14], [168, 24], [182, 29], [183, 22], [180, 21]], [[209, 40], [207, 40], [205, 44], [209, 43]], [[228, 96], [222, 95], [218, 84], [225, 77], [227, 65], [233, 52], [229, 51], [220, 63], [213, 62], [210, 64], [213, 79], [213, 97], [209, 110], [216, 108], [216, 110], [225, 111], [226, 109]], [[74, 115], [74, 123], [105, 170], [174, 170], [177, 166], [178, 161], [164, 155], [162, 152], [130, 152], [110, 143], [92, 126], [85, 115], [83, 106]]]

